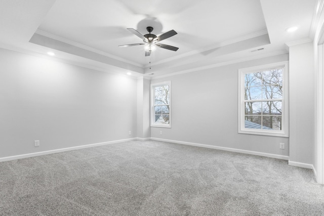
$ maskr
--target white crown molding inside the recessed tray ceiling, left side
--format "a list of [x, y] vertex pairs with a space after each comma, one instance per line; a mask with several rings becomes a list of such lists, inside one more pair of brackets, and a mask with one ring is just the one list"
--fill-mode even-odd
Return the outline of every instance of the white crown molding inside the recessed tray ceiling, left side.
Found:
[[129, 61], [127, 59], [123, 59], [123, 58], [111, 55], [109, 53], [106, 53], [106, 52], [103, 52], [103, 51], [88, 47], [86, 45], [79, 44], [78, 42], [74, 42], [72, 40], [69, 40], [69, 39], [66, 39], [64, 37], [60, 37], [60, 36], [48, 33], [46, 31], [42, 31], [42, 30], [37, 29], [35, 33], [40, 34], [42, 36], [52, 38], [52, 39], [55, 39], [55, 40], [58, 40], [58, 41], [61, 41], [61, 42], [65, 42], [66, 44], [69, 44], [69, 45], [72, 45], [72, 46], [75, 46], [75, 47], [78, 47], [78, 48], [81, 48], [81, 49], [84, 49], [84, 50], [88, 50], [88, 51], [91, 51], [91, 52], [94, 52], [94, 53], [97, 53], [97, 54], [100, 54], [100, 55], [103, 55], [103, 56], [107, 56], [109, 58], [112, 58], [112, 59], [115, 59], [115, 60], [118, 60], [118, 61], [121, 61], [121, 62], [125, 62], [125, 63], [132, 64], [132, 65], [137, 66], [137, 67], [144, 68], [144, 65], [142, 65], [142, 64], [138, 64], [136, 62], [132, 62], [132, 61]]

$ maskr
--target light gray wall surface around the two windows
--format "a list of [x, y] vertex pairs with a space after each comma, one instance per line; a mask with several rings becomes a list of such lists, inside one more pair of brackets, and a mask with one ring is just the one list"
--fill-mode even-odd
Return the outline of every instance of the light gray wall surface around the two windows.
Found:
[[[237, 70], [288, 58], [280, 55], [153, 79], [151, 83], [171, 80], [172, 128], [151, 127], [151, 137], [288, 156], [289, 138], [237, 133]], [[286, 149], [279, 149], [279, 143]]]

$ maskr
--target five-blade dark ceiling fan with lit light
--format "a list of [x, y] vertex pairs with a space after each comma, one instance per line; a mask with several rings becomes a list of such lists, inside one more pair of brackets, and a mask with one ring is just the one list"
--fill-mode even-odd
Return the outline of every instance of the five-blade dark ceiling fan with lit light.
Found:
[[129, 30], [136, 36], [140, 37], [144, 43], [119, 45], [118, 47], [132, 47], [132, 46], [144, 45], [145, 56], [150, 56], [151, 52], [156, 50], [156, 47], [167, 49], [167, 50], [172, 50], [172, 51], [177, 51], [179, 49], [177, 47], [173, 47], [170, 45], [159, 44], [159, 41], [176, 35], [177, 32], [175, 30], [168, 31], [168, 32], [163, 33], [159, 36], [156, 36], [155, 34], [151, 34], [151, 32], [153, 31], [153, 27], [151, 27], [151, 26], [146, 27], [148, 34], [145, 34], [145, 35], [142, 35], [140, 32], [138, 32], [134, 28], [128, 28], [127, 30]]

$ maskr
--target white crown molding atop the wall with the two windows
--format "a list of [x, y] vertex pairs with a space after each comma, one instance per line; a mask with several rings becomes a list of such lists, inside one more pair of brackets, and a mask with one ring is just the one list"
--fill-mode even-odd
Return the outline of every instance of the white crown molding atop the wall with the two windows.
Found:
[[236, 63], [240, 63], [240, 62], [246, 62], [246, 61], [251, 61], [251, 60], [256, 60], [256, 59], [267, 58], [267, 57], [271, 57], [271, 56], [278, 56], [278, 55], [287, 54], [287, 53], [288, 52], [286, 50], [279, 50], [279, 51], [274, 51], [274, 52], [266, 53], [266, 54], [262, 54], [262, 55], [250, 56], [250, 57], [246, 57], [246, 58], [235, 59], [232, 61], [216, 63], [216, 64], [207, 65], [207, 66], [203, 66], [203, 67], [196, 67], [196, 68], [191, 68], [188, 70], [182, 70], [182, 71], [178, 71], [178, 72], [174, 72], [174, 73], [169, 73], [166, 75], [152, 77], [151, 79], [165, 78], [165, 77], [169, 77], [169, 76], [175, 76], [175, 75], [180, 75], [180, 74], [184, 74], [184, 73], [206, 70], [206, 69], [221, 67], [221, 66], [225, 66], [225, 65], [236, 64]]

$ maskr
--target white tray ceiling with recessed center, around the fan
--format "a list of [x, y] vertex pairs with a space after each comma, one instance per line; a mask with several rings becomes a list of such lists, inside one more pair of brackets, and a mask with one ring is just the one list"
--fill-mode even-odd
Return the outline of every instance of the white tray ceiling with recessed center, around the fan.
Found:
[[[318, 0], [1, 0], [0, 47], [133, 75], [163, 76], [239, 59], [287, 53], [311, 41]], [[126, 28], [177, 35], [145, 57]], [[295, 32], [286, 32], [298, 26]], [[259, 48], [262, 51], [251, 52]], [[149, 64], [151, 62], [151, 64]], [[149, 66], [151, 65], [151, 69]], [[154, 73], [154, 75], [149, 75]]]

